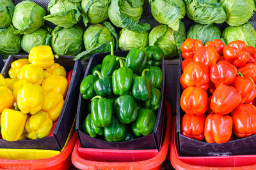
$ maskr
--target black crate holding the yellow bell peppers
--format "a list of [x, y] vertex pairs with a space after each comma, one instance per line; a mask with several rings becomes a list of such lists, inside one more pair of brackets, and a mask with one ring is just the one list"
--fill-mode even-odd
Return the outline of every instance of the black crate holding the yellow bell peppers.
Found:
[[[1, 74], [8, 78], [8, 71], [13, 61], [17, 59], [28, 59], [28, 55], [9, 56], [3, 67]], [[58, 118], [53, 135], [47, 138], [35, 140], [5, 141], [0, 139], [0, 148], [21, 148], [21, 149], [42, 149], [42, 150], [61, 150], [67, 141], [68, 134], [76, 118], [77, 101], [79, 96], [80, 82], [83, 80], [83, 67], [80, 60], [76, 62], [74, 57], [60, 56], [55, 62], [65, 67], [67, 73], [73, 70], [70, 85], [68, 87], [65, 103]]]

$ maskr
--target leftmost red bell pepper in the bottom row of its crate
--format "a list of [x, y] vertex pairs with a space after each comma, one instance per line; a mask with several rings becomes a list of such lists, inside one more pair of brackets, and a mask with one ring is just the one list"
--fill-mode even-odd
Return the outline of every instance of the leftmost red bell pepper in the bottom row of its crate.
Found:
[[181, 133], [191, 139], [204, 140], [205, 114], [201, 116], [185, 114], [181, 120]]

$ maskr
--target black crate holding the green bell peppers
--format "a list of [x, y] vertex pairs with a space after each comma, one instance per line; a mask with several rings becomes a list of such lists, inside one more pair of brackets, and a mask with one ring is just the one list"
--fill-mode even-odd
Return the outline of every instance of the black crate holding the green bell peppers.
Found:
[[[129, 51], [119, 51], [115, 52], [116, 56], [126, 57]], [[84, 78], [88, 76], [94, 66], [99, 63], [102, 63], [102, 60], [106, 55], [109, 55], [109, 52], [106, 53], [98, 53], [91, 57], [86, 72], [84, 74]], [[164, 101], [165, 101], [165, 68], [164, 68], [164, 60], [161, 63], [161, 69], [163, 71], [163, 83], [161, 85], [161, 105], [157, 112], [156, 124], [154, 127], [154, 131], [148, 136], [143, 136], [138, 139], [134, 139], [132, 141], [125, 142], [108, 142], [102, 141], [100, 139], [91, 138], [87, 134], [81, 131], [81, 124], [83, 123], [84, 118], [86, 118], [88, 111], [87, 106], [88, 103], [83, 99], [82, 95], [79, 95], [79, 101], [77, 106], [77, 120], [76, 120], [76, 131], [81, 142], [81, 145], [85, 148], [102, 148], [102, 149], [159, 149], [161, 144], [161, 135], [163, 131], [163, 117], [164, 117]]]

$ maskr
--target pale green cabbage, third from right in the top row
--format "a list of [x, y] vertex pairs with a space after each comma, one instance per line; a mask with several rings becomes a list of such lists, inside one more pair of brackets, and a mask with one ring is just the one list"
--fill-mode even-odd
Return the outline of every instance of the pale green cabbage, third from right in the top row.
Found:
[[174, 31], [179, 30], [180, 20], [186, 14], [182, 0], [149, 0], [151, 13], [160, 24], [166, 24]]

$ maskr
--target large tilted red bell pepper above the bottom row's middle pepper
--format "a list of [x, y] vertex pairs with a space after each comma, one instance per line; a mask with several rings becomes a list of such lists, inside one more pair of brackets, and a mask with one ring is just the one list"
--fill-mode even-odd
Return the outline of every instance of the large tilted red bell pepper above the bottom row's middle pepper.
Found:
[[241, 101], [241, 95], [234, 87], [222, 84], [213, 92], [210, 107], [214, 113], [227, 115], [234, 110]]

